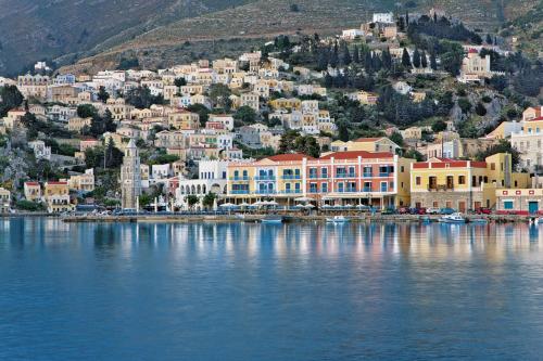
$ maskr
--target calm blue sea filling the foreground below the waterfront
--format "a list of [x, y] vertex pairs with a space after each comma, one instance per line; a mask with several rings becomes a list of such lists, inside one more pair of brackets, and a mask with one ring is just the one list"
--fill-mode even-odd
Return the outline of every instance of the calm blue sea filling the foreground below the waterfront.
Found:
[[543, 225], [0, 220], [0, 360], [536, 360]]

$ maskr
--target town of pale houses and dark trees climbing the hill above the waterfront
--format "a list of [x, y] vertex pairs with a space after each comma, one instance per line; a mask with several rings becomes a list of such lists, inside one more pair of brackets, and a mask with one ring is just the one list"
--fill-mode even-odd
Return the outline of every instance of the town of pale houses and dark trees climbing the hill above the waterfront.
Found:
[[543, 211], [541, 60], [438, 10], [121, 63], [0, 77], [0, 212]]

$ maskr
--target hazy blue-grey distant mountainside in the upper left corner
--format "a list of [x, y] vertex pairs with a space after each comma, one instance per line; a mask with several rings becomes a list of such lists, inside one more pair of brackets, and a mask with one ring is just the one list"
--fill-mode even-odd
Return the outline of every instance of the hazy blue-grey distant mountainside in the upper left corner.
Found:
[[[0, 0], [0, 75], [251, 0]], [[68, 55], [64, 59], [74, 60]]]

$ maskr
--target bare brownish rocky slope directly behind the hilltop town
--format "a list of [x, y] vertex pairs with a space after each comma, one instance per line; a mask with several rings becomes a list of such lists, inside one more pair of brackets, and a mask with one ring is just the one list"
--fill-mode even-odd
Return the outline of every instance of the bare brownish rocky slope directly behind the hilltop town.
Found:
[[[213, 57], [250, 48], [242, 41], [278, 34], [336, 34], [359, 26], [375, 11], [428, 11], [431, 8], [465, 20], [472, 28], [494, 30], [509, 16], [523, 14], [522, 0], [260, 0], [236, 9], [184, 18], [147, 31], [124, 43], [87, 52], [86, 57], [63, 72], [89, 72], [115, 67], [122, 59], [138, 59], [147, 67], [167, 66], [199, 55]], [[520, 5], [519, 5], [520, 4]], [[218, 42], [217, 42], [218, 41]], [[98, 50], [98, 51], [97, 51]], [[191, 56], [192, 55], [192, 56]]]

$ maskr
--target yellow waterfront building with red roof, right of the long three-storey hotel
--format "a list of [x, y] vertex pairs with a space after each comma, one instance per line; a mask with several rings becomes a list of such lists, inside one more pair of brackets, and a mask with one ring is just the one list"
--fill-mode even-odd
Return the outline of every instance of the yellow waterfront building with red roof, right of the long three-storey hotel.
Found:
[[510, 154], [495, 154], [485, 162], [432, 158], [412, 165], [412, 206], [459, 211], [492, 208], [496, 189], [525, 188], [529, 182], [528, 173], [512, 171]]

